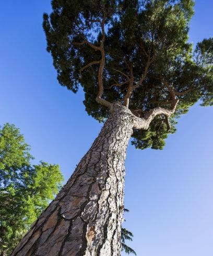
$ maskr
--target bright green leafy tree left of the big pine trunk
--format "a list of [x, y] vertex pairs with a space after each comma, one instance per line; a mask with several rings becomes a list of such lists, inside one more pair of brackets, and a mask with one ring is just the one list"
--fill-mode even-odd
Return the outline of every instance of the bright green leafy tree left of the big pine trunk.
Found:
[[0, 127], [0, 255], [11, 252], [62, 186], [59, 166], [31, 165], [29, 150], [18, 128]]

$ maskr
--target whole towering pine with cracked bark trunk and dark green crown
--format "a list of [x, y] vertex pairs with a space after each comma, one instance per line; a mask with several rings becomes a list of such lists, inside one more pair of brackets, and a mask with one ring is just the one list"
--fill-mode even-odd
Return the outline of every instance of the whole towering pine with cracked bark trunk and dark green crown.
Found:
[[13, 256], [120, 255], [129, 139], [139, 149], [162, 149], [178, 117], [197, 101], [212, 105], [212, 38], [195, 51], [188, 43], [193, 6], [192, 0], [52, 0], [43, 28], [58, 82], [74, 93], [82, 86], [87, 113], [105, 123]]

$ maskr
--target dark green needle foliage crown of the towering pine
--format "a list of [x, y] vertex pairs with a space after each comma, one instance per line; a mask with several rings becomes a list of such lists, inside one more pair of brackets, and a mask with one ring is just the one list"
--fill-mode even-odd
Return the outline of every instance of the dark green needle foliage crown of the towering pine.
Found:
[[[159, 115], [148, 130], [133, 133], [136, 148], [162, 149], [178, 117], [199, 100], [203, 106], [213, 101], [213, 39], [194, 51], [188, 43], [193, 6], [192, 0], [53, 0], [43, 28], [58, 82], [74, 93], [82, 86], [86, 111], [99, 121], [109, 113], [96, 101], [101, 86], [102, 99], [121, 101], [140, 117], [158, 106], [171, 108], [175, 94], [180, 102], [170, 130]], [[102, 52], [96, 48], [101, 43]]]

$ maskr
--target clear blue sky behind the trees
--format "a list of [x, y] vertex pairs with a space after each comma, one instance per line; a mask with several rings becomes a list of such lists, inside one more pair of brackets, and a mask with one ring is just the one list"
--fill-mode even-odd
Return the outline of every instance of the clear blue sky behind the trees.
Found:
[[[15, 124], [35, 162], [58, 163], [67, 180], [101, 128], [82, 91], [60, 86], [46, 52], [50, 0], [1, 3], [0, 124]], [[213, 1], [197, 0], [190, 41], [213, 36]], [[213, 108], [193, 106], [162, 151], [128, 147], [125, 227], [138, 256], [213, 255]]]

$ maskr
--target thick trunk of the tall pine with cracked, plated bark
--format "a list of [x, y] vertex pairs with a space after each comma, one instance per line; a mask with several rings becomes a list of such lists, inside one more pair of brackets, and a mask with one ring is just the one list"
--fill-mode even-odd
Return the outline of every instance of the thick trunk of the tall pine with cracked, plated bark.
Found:
[[113, 104], [97, 139], [11, 256], [118, 256], [134, 115]]

